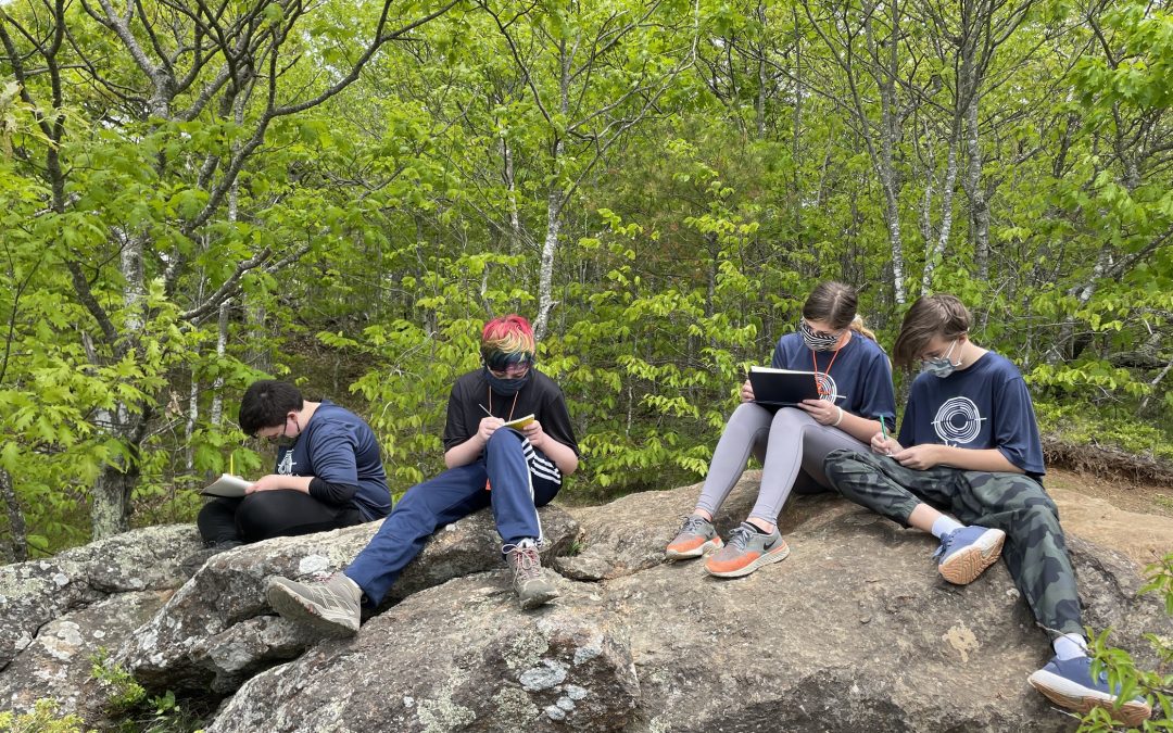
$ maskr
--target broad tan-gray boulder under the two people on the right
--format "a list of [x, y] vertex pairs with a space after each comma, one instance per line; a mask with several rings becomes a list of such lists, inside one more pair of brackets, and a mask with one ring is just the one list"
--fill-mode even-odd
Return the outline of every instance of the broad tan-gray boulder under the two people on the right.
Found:
[[[719, 524], [755, 489], [747, 476]], [[815, 496], [787, 510], [789, 558], [719, 581], [698, 561], [657, 559], [694, 498], [689, 487], [577, 511], [584, 549], [557, 564], [590, 579], [561, 581], [550, 606], [514, 611], [491, 575], [445, 583], [255, 677], [209, 731], [1071, 729], [1025, 681], [1050, 645], [1003, 564], [949, 585], [931, 537]], [[1173, 633], [1154, 598], [1134, 598], [1123, 556], [1074, 539], [1072, 557], [1089, 624], [1140, 652], [1141, 630]], [[601, 666], [579, 671], [598, 646], [611, 650]]]

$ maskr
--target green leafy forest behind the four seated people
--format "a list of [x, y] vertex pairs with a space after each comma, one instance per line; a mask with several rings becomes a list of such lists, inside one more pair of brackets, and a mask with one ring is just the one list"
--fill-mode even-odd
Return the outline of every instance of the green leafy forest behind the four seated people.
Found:
[[1134, 0], [0, 0], [0, 552], [267, 470], [263, 375], [400, 493], [514, 311], [571, 501], [693, 482], [823, 279], [886, 346], [958, 294], [1044, 430], [1169, 457], [1171, 65]]

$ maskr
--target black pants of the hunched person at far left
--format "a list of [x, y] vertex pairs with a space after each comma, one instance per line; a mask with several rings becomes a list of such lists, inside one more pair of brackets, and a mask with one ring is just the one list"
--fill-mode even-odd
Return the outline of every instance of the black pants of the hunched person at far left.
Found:
[[208, 543], [260, 542], [310, 535], [362, 522], [353, 504], [326, 504], [292, 489], [258, 491], [244, 498], [213, 498], [196, 517]]

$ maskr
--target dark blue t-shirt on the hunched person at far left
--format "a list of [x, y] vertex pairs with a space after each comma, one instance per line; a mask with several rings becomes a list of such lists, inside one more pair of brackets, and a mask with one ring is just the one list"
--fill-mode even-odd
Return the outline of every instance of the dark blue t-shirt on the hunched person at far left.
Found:
[[374, 432], [361, 418], [330, 400], [321, 401], [291, 448], [277, 450], [276, 473], [357, 486], [351, 503], [366, 522], [391, 511], [387, 474]]

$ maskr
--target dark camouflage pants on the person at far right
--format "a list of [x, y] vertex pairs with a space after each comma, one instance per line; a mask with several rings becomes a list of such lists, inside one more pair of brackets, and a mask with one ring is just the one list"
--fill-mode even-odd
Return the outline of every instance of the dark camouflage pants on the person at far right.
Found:
[[1038, 624], [1053, 636], [1083, 633], [1059, 510], [1033, 479], [941, 466], [915, 470], [850, 450], [830, 453], [823, 469], [840, 494], [904, 527], [913, 509], [927, 503], [964, 524], [1003, 530], [1002, 557]]

